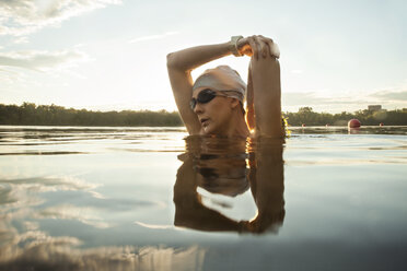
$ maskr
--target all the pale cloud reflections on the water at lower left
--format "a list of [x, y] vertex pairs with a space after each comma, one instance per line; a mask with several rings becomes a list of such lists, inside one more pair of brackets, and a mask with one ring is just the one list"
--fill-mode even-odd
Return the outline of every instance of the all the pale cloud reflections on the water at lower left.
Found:
[[[88, 193], [88, 204], [104, 200], [93, 191], [97, 185], [72, 177], [0, 179], [0, 270], [201, 270], [206, 250], [188, 247], [136, 247], [86, 245], [73, 236], [51, 236], [39, 221], [75, 220], [94, 228], [111, 225], [97, 216], [95, 208], [45, 203], [42, 192]], [[94, 200], [92, 200], [94, 199]], [[107, 200], [107, 203], [108, 200]], [[117, 202], [111, 202], [117, 205]], [[146, 202], [137, 202], [147, 204]]]

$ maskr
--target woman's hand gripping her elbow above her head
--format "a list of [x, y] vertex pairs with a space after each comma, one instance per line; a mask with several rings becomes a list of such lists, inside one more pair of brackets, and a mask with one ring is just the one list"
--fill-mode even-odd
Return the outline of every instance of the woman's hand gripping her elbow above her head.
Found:
[[275, 44], [271, 38], [261, 35], [241, 38], [237, 42], [237, 49], [242, 55], [256, 59], [258, 59], [258, 57], [266, 58], [268, 56], [274, 58], [280, 57], [280, 50], [277, 44]]

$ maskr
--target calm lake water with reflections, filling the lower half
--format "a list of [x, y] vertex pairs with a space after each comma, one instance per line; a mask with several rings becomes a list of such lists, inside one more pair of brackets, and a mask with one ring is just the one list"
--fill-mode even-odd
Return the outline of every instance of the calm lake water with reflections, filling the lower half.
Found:
[[0, 127], [0, 270], [405, 270], [406, 136]]

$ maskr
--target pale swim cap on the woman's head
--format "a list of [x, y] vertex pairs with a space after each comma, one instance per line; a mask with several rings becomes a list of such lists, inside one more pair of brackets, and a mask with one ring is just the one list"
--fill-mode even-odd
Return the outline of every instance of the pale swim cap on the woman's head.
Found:
[[224, 92], [229, 97], [237, 98], [242, 104], [245, 99], [246, 83], [241, 75], [229, 66], [218, 66], [206, 70], [194, 83], [193, 92], [196, 90], [210, 89]]

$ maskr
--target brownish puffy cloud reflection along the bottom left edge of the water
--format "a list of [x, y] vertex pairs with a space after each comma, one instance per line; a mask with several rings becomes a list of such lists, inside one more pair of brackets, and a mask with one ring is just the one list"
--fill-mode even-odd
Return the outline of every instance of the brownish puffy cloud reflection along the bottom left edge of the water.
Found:
[[70, 236], [32, 231], [0, 247], [1, 270], [201, 270], [206, 249], [190, 247], [79, 248]]

